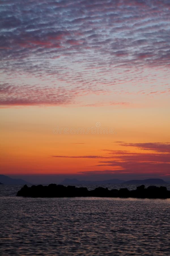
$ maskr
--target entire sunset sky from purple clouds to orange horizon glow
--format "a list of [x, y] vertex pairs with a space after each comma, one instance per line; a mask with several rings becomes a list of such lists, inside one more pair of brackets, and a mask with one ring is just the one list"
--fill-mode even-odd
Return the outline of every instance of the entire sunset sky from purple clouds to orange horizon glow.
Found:
[[170, 1], [0, 3], [1, 174], [170, 180]]

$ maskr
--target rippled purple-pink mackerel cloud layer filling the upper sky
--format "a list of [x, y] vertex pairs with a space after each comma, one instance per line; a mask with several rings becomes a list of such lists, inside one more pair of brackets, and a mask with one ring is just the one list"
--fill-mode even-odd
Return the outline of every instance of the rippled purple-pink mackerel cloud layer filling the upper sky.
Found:
[[136, 106], [157, 95], [167, 101], [169, 1], [0, 5], [1, 105]]

